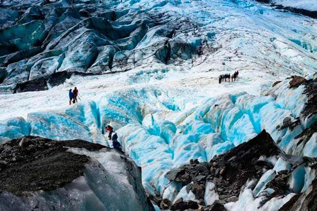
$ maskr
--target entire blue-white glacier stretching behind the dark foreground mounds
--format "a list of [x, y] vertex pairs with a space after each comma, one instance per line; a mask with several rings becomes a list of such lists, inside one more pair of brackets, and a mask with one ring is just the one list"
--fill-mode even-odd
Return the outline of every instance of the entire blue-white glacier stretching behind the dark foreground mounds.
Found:
[[[316, 5], [272, 3], [311, 11]], [[2, 4], [0, 143], [31, 135], [111, 147], [104, 129], [110, 124], [142, 168], [145, 192], [173, 203], [201, 202], [187, 191], [190, 184], [169, 181], [167, 172], [210, 162], [263, 130], [287, 155], [317, 157], [316, 19], [243, 0]], [[237, 81], [218, 83], [219, 74], [237, 70]], [[75, 86], [82, 101], [68, 105]], [[272, 168], [225, 209], [278, 210], [308, 196], [316, 170], [293, 160], [261, 157]], [[291, 172], [291, 191], [259, 208], [274, 195], [267, 184], [281, 171]], [[211, 206], [221, 195], [206, 183], [203, 203]]]

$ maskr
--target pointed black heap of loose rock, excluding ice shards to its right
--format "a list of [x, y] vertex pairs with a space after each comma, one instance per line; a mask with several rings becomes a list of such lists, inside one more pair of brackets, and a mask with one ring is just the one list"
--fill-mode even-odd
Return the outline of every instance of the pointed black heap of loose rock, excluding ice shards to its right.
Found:
[[[280, 154], [283, 152], [263, 130], [254, 139], [214, 157], [210, 163], [192, 161], [189, 165], [171, 170], [166, 177], [170, 181], [188, 184], [188, 191], [191, 190], [197, 199], [203, 199], [205, 182], [211, 181], [216, 185], [219, 203], [224, 204], [237, 200], [236, 197], [246, 181], [258, 180], [263, 175], [263, 169], [273, 168], [270, 163], [259, 161], [260, 156], [269, 157]], [[192, 181], [193, 183], [190, 183]]]

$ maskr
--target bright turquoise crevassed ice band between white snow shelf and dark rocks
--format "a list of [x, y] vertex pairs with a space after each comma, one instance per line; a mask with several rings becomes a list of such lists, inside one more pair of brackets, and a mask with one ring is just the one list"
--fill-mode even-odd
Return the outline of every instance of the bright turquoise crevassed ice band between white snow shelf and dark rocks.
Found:
[[263, 129], [287, 154], [316, 157], [316, 133], [305, 135], [316, 120], [316, 114], [304, 112], [308, 85], [289, 88], [289, 81], [259, 96], [241, 92], [199, 100], [178, 97], [175, 90], [129, 88], [63, 110], [30, 113], [27, 120], [3, 120], [0, 140], [33, 135], [105, 144], [104, 126], [111, 124], [123, 149], [142, 167], [146, 191], [163, 194], [170, 169], [190, 159], [209, 162]]

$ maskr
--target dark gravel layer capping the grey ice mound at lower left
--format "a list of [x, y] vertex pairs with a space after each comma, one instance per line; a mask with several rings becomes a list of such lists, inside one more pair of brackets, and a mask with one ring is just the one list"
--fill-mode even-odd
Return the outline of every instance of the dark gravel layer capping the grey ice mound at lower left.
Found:
[[81, 176], [89, 158], [66, 152], [65, 147], [96, 150], [104, 146], [32, 136], [6, 142], [0, 145], [0, 192], [50, 191]]

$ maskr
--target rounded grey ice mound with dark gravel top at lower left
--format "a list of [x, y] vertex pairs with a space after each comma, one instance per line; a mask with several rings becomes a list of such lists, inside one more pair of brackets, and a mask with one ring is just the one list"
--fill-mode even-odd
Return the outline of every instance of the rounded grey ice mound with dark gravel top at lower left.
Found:
[[1, 210], [153, 210], [140, 169], [119, 151], [27, 136], [0, 153]]

